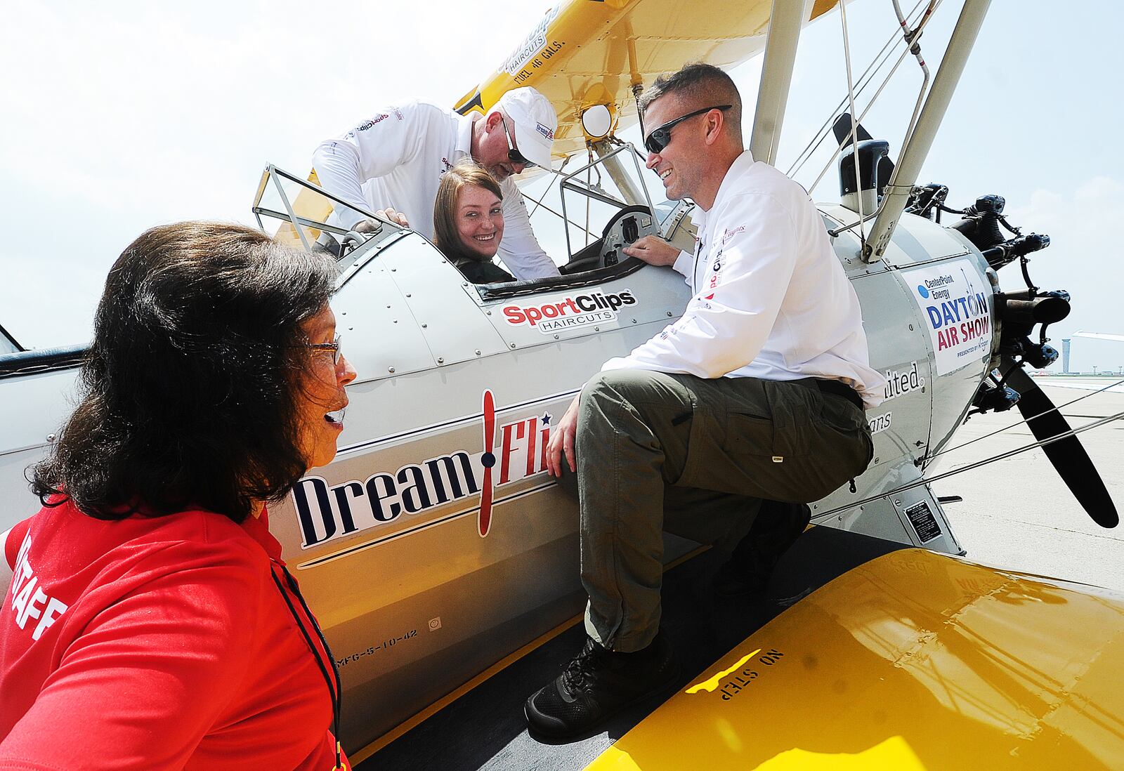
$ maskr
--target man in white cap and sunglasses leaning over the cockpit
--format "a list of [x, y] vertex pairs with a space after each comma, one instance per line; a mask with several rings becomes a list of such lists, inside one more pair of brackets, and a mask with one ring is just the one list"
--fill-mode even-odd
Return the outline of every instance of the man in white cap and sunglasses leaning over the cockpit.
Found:
[[[320, 187], [345, 201], [379, 212], [433, 238], [433, 207], [441, 175], [471, 155], [504, 191], [504, 239], [499, 257], [517, 279], [559, 275], [538, 245], [514, 174], [551, 166], [558, 116], [532, 88], [508, 91], [487, 116], [425, 102], [378, 110], [336, 139], [320, 143], [312, 167]], [[341, 208], [338, 224], [352, 228], [363, 215]]]

